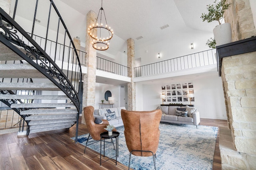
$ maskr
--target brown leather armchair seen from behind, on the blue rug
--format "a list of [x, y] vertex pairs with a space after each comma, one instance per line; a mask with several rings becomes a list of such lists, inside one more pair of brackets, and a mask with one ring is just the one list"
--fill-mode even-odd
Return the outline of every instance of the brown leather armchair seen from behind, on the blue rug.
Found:
[[162, 116], [160, 109], [153, 111], [121, 110], [124, 123], [124, 136], [127, 148], [135, 156], [153, 156], [156, 169], [156, 150], [158, 148], [160, 130], [159, 123]]

